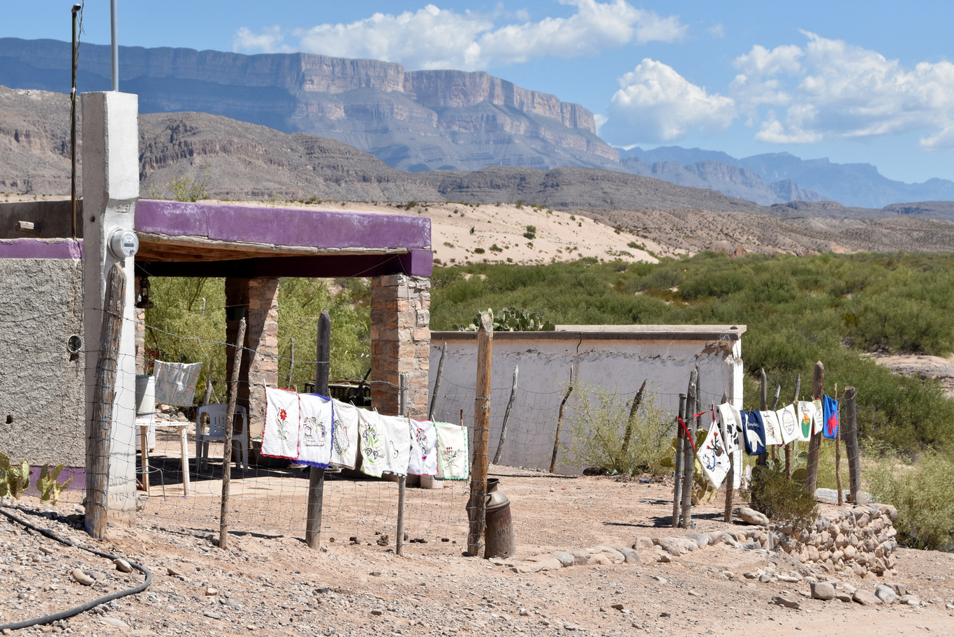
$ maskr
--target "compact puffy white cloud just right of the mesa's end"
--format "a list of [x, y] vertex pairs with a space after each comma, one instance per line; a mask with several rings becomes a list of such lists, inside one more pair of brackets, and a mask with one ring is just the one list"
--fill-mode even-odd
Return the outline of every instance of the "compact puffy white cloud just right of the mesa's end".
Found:
[[710, 94], [662, 62], [646, 58], [619, 79], [606, 128], [620, 142], [664, 142], [691, 130], [725, 130], [736, 116], [735, 101]]

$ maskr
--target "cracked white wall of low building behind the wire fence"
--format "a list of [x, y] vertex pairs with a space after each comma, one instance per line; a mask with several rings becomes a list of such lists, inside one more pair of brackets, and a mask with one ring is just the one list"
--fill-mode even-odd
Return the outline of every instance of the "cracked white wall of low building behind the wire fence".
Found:
[[[697, 327], [702, 330], [706, 326]], [[721, 326], [712, 326], [721, 327]], [[572, 329], [570, 326], [568, 330]], [[493, 339], [490, 397], [490, 444], [492, 460], [500, 438], [500, 426], [510, 393], [515, 365], [520, 366], [517, 401], [508, 424], [501, 463], [549, 469], [559, 404], [570, 382], [570, 369], [579, 385], [599, 386], [628, 402], [643, 380], [656, 404], [674, 415], [679, 394], [685, 393], [693, 367], [699, 365], [699, 388], [703, 403], [719, 402], [723, 393], [736, 406], [742, 403], [741, 341], [744, 327], [736, 334], [711, 330], [712, 338], [661, 332], [655, 335], [613, 332], [496, 333]], [[720, 339], [719, 336], [726, 337]], [[472, 432], [474, 386], [477, 378], [477, 339], [474, 333], [432, 332], [430, 384], [433, 394], [441, 348], [447, 344], [444, 375], [437, 396], [434, 420], [464, 421]], [[568, 401], [561, 442], [572, 444], [567, 422]], [[675, 432], [675, 429], [673, 429]], [[739, 457], [740, 461], [740, 457]], [[557, 471], [579, 473], [584, 467], [565, 463], [558, 456]], [[740, 475], [740, 471], [737, 472]]]

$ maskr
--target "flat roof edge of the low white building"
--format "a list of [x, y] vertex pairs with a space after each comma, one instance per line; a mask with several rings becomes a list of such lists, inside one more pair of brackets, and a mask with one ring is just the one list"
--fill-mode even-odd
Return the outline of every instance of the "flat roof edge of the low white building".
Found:
[[[745, 325], [557, 325], [554, 332], [494, 332], [505, 340], [739, 340]], [[430, 340], [476, 339], [476, 332], [431, 332]]]

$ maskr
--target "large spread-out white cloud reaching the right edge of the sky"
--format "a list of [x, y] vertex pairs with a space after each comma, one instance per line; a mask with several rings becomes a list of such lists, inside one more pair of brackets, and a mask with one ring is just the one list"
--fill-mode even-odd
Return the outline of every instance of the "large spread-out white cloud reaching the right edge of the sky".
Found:
[[[954, 64], [905, 68], [877, 51], [802, 32], [804, 47], [755, 46], [736, 58], [730, 93], [758, 122], [757, 139], [811, 143], [928, 130], [923, 148], [954, 150]], [[763, 106], [785, 110], [761, 113]]]

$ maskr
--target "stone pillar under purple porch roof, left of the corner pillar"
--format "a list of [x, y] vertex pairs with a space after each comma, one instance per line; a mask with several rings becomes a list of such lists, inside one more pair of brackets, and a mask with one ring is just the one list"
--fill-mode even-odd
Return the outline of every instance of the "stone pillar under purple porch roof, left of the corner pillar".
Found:
[[[253, 441], [260, 440], [265, 423], [263, 383], [279, 382], [279, 279], [226, 278], [225, 307], [227, 342], [235, 340], [239, 320], [245, 318], [247, 349], [241, 357], [236, 401], [248, 410], [249, 436]], [[231, 376], [231, 352], [225, 360], [227, 374]]]

